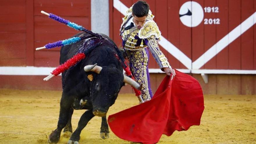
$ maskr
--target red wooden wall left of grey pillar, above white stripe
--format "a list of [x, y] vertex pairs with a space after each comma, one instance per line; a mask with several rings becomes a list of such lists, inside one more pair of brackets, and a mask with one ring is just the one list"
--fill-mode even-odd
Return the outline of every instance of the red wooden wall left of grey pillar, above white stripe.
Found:
[[90, 0], [2, 0], [0, 5], [0, 66], [56, 67], [59, 50], [35, 51], [65, 40], [78, 31], [40, 13], [54, 13], [90, 29]]

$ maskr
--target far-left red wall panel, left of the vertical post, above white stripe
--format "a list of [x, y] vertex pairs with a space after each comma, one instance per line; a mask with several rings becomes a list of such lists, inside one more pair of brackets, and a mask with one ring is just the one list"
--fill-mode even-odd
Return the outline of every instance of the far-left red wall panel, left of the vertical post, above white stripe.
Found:
[[26, 65], [26, 1], [1, 1], [0, 17], [0, 66]]

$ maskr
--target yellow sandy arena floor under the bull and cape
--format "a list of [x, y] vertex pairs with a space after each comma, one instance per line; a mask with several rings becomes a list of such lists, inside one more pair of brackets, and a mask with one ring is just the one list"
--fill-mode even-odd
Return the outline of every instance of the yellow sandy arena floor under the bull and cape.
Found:
[[[0, 89], [0, 143], [47, 143], [56, 129], [61, 91]], [[120, 94], [108, 115], [138, 104], [134, 95]], [[84, 110], [74, 111], [73, 129]], [[201, 125], [163, 135], [159, 144], [256, 143], [256, 95], [205, 95]], [[110, 132], [99, 137], [101, 118], [94, 117], [81, 133], [80, 143], [127, 143]], [[61, 136], [59, 143], [67, 143]]]

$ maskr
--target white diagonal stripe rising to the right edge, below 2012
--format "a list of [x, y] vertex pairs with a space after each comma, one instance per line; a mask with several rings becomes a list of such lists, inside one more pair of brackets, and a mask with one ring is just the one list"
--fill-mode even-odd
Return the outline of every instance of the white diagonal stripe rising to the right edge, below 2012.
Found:
[[193, 69], [199, 69], [205, 63], [207, 63], [211, 58], [216, 56], [220, 51], [222, 51], [227, 45], [237, 39], [240, 35], [242, 35], [245, 31], [247, 31], [250, 27], [252, 27], [256, 23], [256, 12], [253, 13], [250, 17], [248, 17], [245, 21], [243, 21], [239, 26], [234, 28], [230, 33], [225, 35], [221, 40], [219, 40], [215, 45], [213, 45], [210, 49], [208, 49], [202, 56], [200, 56], [197, 60], [192, 63]]

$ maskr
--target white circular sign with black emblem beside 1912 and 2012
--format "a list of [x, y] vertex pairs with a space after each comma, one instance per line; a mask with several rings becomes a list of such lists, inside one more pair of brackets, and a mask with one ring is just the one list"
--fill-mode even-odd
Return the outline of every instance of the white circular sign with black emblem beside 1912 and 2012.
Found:
[[185, 26], [198, 26], [204, 18], [202, 6], [195, 1], [185, 2], [179, 9], [179, 19]]

